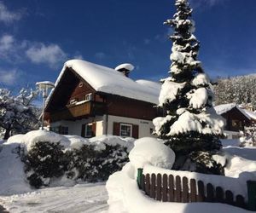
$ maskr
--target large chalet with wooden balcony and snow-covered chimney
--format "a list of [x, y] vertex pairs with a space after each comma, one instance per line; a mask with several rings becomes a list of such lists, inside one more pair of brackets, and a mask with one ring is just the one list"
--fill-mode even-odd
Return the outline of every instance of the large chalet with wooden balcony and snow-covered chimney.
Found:
[[154, 130], [160, 83], [129, 78], [131, 64], [116, 69], [68, 60], [49, 94], [45, 118], [60, 134], [140, 138]]

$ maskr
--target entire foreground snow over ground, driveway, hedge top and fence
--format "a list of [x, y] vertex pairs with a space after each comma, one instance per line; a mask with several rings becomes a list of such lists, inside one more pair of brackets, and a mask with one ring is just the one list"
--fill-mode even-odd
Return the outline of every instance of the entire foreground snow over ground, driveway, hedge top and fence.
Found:
[[[45, 187], [40, 190], [32, 189], [26, 182], [23, 164], [15, 153], [15, 147], [21, 143], [29, 148], [37, 141], [61, 141], [67, 149], [79, 148], [84, 143], [94, 143], [99, 149], [103, 148], [103, 141], [107, 144], [120, 144], [131, 150], [130, 163], [122, 171], [114, 173], [107, 182], [96, 184], [77, 184], [60, 181], [61, 187]], [[50, 139], [50, 140], [49, 140]], [[60, 140], [61, 139], [61, 140]], [[43, 140], [43, 141], [44, 141]], [[220, 161], [226, 161], [226, 179], [241, 183], [247, 178], [256, 180], [256, 149], [253, 147], [224, 145], [224, 153], [218, 156]], [[236, 141], [234, 142], [236, 144]], [[228, 146], [227, 146], [228, 145]], [[137, 187], [137, 168], [154, 168], [155, 172], [169, 170], [172, 167], [175, 154], [163, 144], [163, 141], [154, 138], [143, 138], [133, 142], [131, 139], [122, 139], [117, 136], [104, 136], [84, 140], [72, 135], [55, 135], [49, 132], [31, 132], [28, 135], [15, 135], [9, 141], [0, 145], [0, 205], [9, 212], [104, 212], [104, 213], [166, 213], [173, 210], [175, 213], [205, 213], [205, 212], [247, 212], [227, 204], [177, 204], [161, 203], [149, 199]], [[170, 172], [174, 172], [169, 170]], [[166, 171], [165, 171], [166, 172]], [[186, 173], [186, 172], [185, 172]], [[187, 172], [189, 173], [189, 172]], [[187, 176], [188, 174], [186, 174]], [[190, 176], [189, 174], [188, 176]], [[193, 174], [192, 174], [193, 175]], [[206, 175], [201, 175], [206, 176]], [[230, 186], [232, 191], [245, 195], [242, 184], [231, 184], [221, 179], [225, 177], [206, 176], [211, 182], [219, 182]], [[212, 180], [212, 179], [213, 180]], [[60, 186], [56, 184], [56, 186]], [[240, 186], [240, 188], [239, 188]], [[246, 188], [246, 187], [244, 187]], [[109, 197], [108, 197], [109, 196]], [[246, 198], [246, 195], [245, 195]], [[107, 203], [108, 201], [108, 203]]]

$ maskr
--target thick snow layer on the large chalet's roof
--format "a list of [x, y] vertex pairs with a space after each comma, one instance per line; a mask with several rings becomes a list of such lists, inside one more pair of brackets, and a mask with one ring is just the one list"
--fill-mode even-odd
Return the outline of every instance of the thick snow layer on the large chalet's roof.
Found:
[[[148, 80], [134, 81], [112, 68], [96, 65], [85, 60], [67, 60], [55, 82], [55, 87], [61, 81], [61, 77], [67, 68], [72, 68], [97, 92], [120, 95], [154, 104], [159, 103], [160, 86], [156, 86], [156, 83]], [[53, 91], [49, 98], [52, 94]]]

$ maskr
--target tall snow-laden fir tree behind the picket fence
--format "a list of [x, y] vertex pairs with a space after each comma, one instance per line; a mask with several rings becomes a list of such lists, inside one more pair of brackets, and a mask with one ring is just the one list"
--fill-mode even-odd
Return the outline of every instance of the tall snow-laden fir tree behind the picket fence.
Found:
[[174, 28], [171, 77], [162, 79], [160, 104], [163, 117], [155, 118], [155, 133], [176, 153], [173, 169], [222, 174], [212, 154], [221, 148], [224, 122], [212, 108], [213, 93], [201, 61], [192, 9], [187, 0], [176, 0], [177, 13], [166, 24]]

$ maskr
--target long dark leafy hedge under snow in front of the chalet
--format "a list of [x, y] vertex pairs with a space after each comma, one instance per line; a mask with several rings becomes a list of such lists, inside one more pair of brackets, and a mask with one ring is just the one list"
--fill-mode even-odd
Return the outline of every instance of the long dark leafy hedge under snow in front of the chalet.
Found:
[[[49, 134], [48, 134], [49, 135]], [[37, 141], [21, 155], [27, 180], [33, 187], [49, 186], [52, 178], [106, 181], [128, 161], [127, 147], [102, 142], [66, 148], [60, 142]]]

